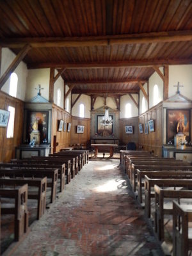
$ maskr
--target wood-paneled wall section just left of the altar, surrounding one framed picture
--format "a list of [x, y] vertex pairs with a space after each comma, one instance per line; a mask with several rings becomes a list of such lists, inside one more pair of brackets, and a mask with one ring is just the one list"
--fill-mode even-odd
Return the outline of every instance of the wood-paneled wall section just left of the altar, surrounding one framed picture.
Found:
[[[83, 133], [77, 133], [77, 125], [84, 126]], [[71, 143], [72, 144], [84, 144], [89, 146], [90, 144], [90, 130], [91, 130], [91, 120], [90, 118], [81, 118], [72, 116], [72, 130], [71, 130]]]

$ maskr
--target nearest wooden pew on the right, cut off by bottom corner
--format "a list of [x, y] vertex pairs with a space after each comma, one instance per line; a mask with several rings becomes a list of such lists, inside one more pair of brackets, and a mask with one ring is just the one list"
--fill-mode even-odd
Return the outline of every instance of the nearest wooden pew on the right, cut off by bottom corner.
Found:
[[173, 201], [173, 256], [188, 256], [192, 250], [192, 206]]

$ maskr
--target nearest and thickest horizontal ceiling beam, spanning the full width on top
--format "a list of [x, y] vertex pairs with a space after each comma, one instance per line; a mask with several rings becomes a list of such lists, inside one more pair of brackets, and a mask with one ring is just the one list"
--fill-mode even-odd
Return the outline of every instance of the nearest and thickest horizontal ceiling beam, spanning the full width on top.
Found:
[[120, 44], [154, 44], [166, 42], [186, 42], [192, 40], [192, 31], [163, 31], [128, 35], [84, 36], [84, 37], [38, 37], [1, 38], [0, 46], [20, 48], [25, 44], [32, 47], [92, 47]]

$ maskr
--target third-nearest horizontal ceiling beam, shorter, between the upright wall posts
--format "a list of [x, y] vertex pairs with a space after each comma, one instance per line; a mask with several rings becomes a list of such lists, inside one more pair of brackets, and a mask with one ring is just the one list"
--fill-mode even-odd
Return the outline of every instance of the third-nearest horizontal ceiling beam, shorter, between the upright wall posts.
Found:
[[147, 79], [124, 79], [124, 80], [93, 80], [93, 81], [65, 81], [68, 85], [70, 84], [128, 84], [128, 83], [146, 83]]

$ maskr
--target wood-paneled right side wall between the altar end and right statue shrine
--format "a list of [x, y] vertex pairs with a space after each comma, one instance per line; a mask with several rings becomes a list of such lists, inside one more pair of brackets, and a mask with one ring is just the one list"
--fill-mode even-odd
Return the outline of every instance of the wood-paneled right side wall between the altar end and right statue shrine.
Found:
[[[155, 131], [150, 132], [148, 129], [148, 134], [145, 134], [145, 123], [148, 120], [154, 120]], [[163, 146], [163, 106], [162, 102], [159, 103], [154, 108], [149, 109], [143, 115], [139, 116], [139, 124], [143, 124], [143, 133], [139, 133], [139, 145], [143, 147], [143, 150], [151, 152], [153, 150], [154, 154], [161, 157], [162, 156], [162, 146]]]

